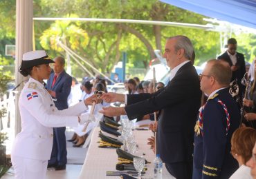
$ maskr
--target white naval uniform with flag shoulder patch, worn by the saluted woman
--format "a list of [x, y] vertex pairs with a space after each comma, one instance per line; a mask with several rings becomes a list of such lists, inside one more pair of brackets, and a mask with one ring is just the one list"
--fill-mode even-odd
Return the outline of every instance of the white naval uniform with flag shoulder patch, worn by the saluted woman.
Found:
[[11, 153], [15, 178], [45, 178], [53, 147], [53, 127], [77, 127], [77, 116], [87, 109], [82, 101], [59, 111], [44, 85], [30, 77], [19, 98], [21, 132]]

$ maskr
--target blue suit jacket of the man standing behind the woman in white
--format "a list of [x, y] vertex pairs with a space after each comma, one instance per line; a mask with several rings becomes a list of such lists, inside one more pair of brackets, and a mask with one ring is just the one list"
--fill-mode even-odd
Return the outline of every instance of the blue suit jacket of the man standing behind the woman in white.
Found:
[[71, 92], [72, 77], [65, 72], [65, 70], [60, 74], [60, 76], [53, 84], [54, 73], [51, 74], [47, 81], [46, 89], [53, 90], [56, 92], [56, 99], [54, 101], [57, 109], [62, 110], [68, 108], [68, 95]]

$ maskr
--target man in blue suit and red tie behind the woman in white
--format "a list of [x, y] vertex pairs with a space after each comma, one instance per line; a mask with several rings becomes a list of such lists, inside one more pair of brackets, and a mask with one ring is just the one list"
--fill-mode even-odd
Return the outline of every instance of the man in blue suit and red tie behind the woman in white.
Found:
[[[57, 56], [54, 59], [54, 73], [47, 81], [46, 89], [53, 97], [57, 109], [68, 108], [68, 95], [71, 92], [72, 77], [65, 70], [65, 59]], [[55, 167], [56, 170], [66, 169], [66, 127], [53, 128], [53, 150], [48, 167]]]

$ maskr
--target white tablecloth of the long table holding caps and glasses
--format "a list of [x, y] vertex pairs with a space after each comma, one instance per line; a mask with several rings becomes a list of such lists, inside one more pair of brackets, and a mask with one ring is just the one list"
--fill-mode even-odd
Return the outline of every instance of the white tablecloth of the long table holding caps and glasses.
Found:
[[[82, 170], [80, 172], [80, 178], [120, 178], [119, 176], [106, 176], [107, 171], [116, 171], [118, 155], [116, 154], [116, 149], [98, 147], [98, 141], [100, 140], [100, 138], [98, 137], [99, 131], [100, 127], [95, 127], [95, 129], [93, 129], [91, 143], [87, 151], [86, 158], [84, 160], [84, 165], [82, 166]], [[145, 153], [144, 157], [151, 162], [151, 164], [147, 164], [145, 166], [147, 167], [147, 171], [143, 178], [153, 178], [153, 161], [155, 156], [152, 149], [149, 149], [149, 145], [147, 145], [147, 138], [152, 136], [152, 131], [134, 130], [134, 136], [136, 139], [136, 143], [138, 144], [139, 154]], [[174, 178], [170, 175], [165, 166], [163, 166], [163, 178]]]

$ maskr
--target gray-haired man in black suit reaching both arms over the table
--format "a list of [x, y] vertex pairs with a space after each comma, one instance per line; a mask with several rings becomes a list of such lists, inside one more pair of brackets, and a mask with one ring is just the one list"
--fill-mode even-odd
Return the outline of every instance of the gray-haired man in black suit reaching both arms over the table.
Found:
[[[170, 82], [154, 94], [103, 94], [107, 102], [126, 101], [126, 107], [107, 107], [107, 116], [127, 114], [129, 119], [161, 110], [157, 128], [157, 151], [167, 170], [177, 179], [192, 178], [194, 124], [200, 107], [199, 76], [191, 61], [193, 46], [186, 36], [167, 39], [164, 57]], [[127, 99], [127, 100], [126, 100]]]

